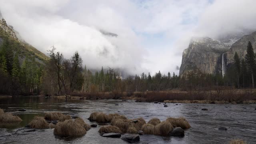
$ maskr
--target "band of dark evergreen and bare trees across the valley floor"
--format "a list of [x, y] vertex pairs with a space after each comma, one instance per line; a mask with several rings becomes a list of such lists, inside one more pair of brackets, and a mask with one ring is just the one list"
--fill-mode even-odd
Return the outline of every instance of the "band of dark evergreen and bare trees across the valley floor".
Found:
[[[221, 73], [204, 74], [194, 69], [183, 76], [175, 73], [140, 75], [122, 78], [113, 68], [90, 71], [82, 66], [78, 52], [69, 59], [54, 46], [48, 50], [48, 60], [40, 61], [30, 54], [20, 57], [13, 44], [4, 40], [0, 46], [0, 94], [6, 95], [70, 95], [79, 93], [172, 91], [186, 92], [254, 88], [256, 54], [248, 42], [245, 58], [234, 54], [234, 63]], [[86, 63], [86, 62], [84, 62]], [[99, 68], [100, 69], [100, 68]]]

